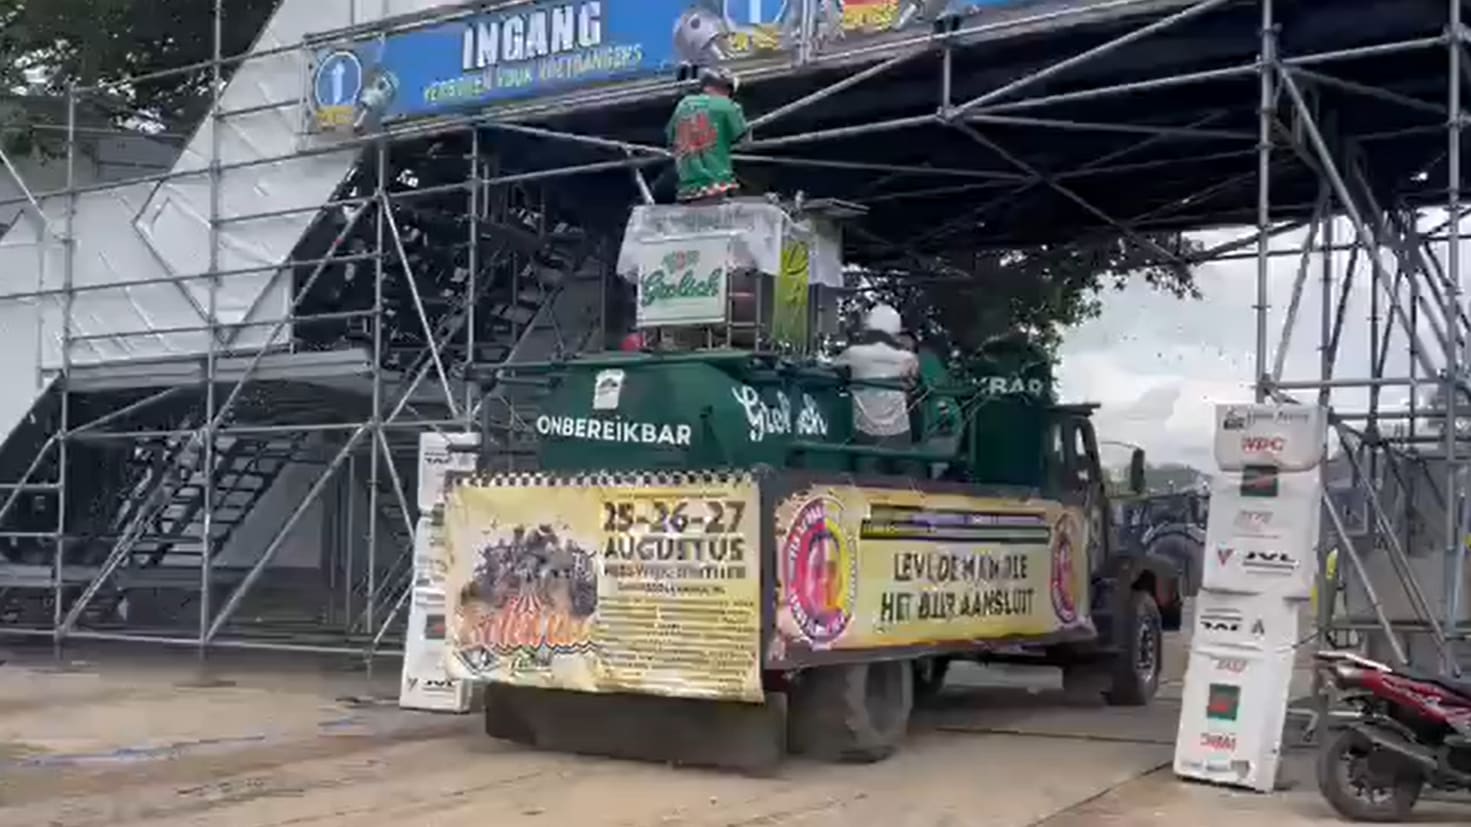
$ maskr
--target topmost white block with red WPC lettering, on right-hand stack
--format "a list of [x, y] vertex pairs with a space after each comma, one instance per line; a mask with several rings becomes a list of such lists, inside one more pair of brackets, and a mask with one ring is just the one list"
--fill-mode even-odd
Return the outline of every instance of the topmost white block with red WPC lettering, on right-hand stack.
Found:
[[1328, 416], [1306, 405], [1218, 405], [1215, 462], [1222, 471], [1274, 466], [1308, 471], [1322, 462]]

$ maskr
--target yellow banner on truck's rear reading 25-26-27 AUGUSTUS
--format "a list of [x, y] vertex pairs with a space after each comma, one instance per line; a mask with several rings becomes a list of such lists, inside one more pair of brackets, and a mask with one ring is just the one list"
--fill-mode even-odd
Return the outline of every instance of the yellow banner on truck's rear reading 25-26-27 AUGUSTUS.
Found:
[[450, 675], [759, 703], [758, 525], [749, 477], [462, 480]]

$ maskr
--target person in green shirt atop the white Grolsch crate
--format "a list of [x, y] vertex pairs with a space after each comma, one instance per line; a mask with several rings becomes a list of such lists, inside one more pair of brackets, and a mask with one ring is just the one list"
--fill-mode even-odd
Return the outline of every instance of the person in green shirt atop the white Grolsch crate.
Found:
[[746, 113], [731, 100], [737, 81], [724, 69], [700, 69], [700, 91], [684, 96], [668, 137], [680, 177], [678, 200], [697, 202], [740, 190], [731, 147], [746, 134]]

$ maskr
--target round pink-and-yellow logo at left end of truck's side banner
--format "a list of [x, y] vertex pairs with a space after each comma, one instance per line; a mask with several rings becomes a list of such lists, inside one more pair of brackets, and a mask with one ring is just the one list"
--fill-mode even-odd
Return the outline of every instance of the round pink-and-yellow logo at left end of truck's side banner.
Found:
[[841, 512], [836, 500], [808, 500], [781, 544], [787, 608], [816, 645], [837, 640], [853, 618], [858, 558], [843, 536]]

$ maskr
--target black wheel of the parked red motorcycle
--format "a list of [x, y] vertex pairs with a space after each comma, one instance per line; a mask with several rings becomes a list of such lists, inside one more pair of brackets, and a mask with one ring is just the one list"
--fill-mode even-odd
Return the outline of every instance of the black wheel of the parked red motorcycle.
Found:
[[1353, 730], [1340, 731], [1318, 752], [1318, 790], [1350, 821], [1403, 821], [1424, 784], [1415, 768]]

